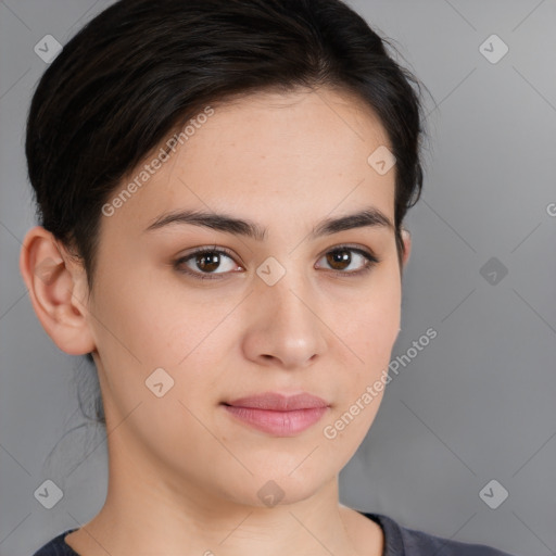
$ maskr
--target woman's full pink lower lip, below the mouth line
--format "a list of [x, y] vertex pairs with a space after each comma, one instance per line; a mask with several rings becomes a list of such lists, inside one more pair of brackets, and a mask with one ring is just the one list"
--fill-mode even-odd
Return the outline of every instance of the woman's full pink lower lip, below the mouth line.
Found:
[[254, 429], [278, 437], [294, 437], [319, 421], [328, 407], [312, 407], [291, 412], [224, 406], [228, 413]]

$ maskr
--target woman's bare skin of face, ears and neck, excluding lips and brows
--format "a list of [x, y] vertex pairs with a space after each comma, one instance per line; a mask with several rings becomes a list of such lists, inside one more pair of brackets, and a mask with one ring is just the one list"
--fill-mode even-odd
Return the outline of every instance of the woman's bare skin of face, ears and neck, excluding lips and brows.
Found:
[[[258, 93], [216, 105], [101, 217], [92, 291], [64, 245], [39, 226], [29, 230], [21, 270], [35, 312], [61, 350], [93, 353], [106, 415], [106, 501], [66, 536], [78, 554], [382, 554], [380, 527], [339, 503], [338, 473], [383, 391], [359, 402], [333, 439], [324, 429], [388, 368], [402, 296], [394, 230], [309, 236], [323, 219], [368, 207], [394, 222], [395, 166], [380, 175], [367, 162], [380, 146], [390, 147], [384, 129], [349, 94]], [[267, 232], [256, 240], [191, 224], [147, 230], [178, 210], [225, 213]], [[403, 265], [407, 233], [404, 242]], [[350, 264], [331, 266], [327, 254], [345, 244]], [[201, 247], [230, 252], [211, 267], [215, 279], [185, 274], [208, 274], [194, 256], [176, 264]], [[379, 262], [355, 275], [366, 258], [353, 249]], [[273, 286], [256, 274], [268, 257], [286, 270]], [[58, 266], [46, 280], [48, 264]], [[160, 397], [146, 387], [157, 368], [174, 380]], [[265, 391], [309, 392], [329, 407], [287, 437], [255, 430], [223, 405]], [[283, 493], [271, 507], [257, 494], [268, 481]]]

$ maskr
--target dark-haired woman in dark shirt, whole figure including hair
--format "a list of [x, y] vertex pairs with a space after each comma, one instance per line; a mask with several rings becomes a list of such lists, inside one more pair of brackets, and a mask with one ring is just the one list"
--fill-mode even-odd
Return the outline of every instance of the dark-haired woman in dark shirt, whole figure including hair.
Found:
[[109, 489], [36, 556], [503, 555], [339, 503], [400, 330], [412, 84], [339, 0], [121, 1], [65, 46], [21, 270], [94, 362]]

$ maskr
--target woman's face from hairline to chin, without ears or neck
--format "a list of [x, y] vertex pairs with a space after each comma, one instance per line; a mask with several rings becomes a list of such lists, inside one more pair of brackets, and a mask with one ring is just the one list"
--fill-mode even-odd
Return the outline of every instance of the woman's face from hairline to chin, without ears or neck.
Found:
[[[395, 165], [384, 173], [378, 154], [368, 162], [390, 147], [383, 128], [355, 99], [328, 90], [258, 93], [205, 114], [184, 146], [151, 164], [157, 150], [124, 180], [102, 216], [87, 323], [112, 472], [207, 504], [291, 503], [337, 477], [382, 397], [369, 388], [383, 382], [400, 329], [388, 225]], [[129, 188], [136, 177], [140, 187]], [[131, 194], [113, 202], [125, 188]], [[213, 227], [164, 223], [192, 211]], [[379, 218], [323, 232], [363, 211]], [[217, 215], [264, 237], [245, 225], [225, 230]], [[199, 248], [205, 254], [190, 256]], [[327, 407], [225, 405], [268, 392], [305, 392]]]

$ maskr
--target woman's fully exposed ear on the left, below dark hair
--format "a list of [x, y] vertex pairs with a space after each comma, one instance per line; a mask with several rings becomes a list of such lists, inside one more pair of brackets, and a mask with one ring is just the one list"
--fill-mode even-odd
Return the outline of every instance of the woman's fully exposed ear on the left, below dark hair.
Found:
[[36, 226], [25, 235], [20, 270], [33, 308], [52, 341], [71, 355], [94, 351], [87, 321], [87, 277], [75, 255]]

